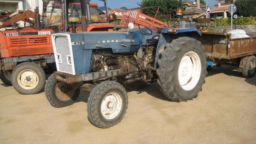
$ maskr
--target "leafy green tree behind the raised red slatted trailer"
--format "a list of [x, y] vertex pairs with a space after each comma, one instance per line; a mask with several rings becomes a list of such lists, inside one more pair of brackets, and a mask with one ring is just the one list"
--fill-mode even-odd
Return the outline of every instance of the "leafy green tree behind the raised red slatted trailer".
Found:
[[[157, 15], [171, 14], [172, 17], [176, 17], [177, 8], [183, 7], [182, 0], [142, 0], [140, 4], [137, 4], [140, 5], [141, 8], [159, 6], [160, 8]], [[143, 13], [151, 17], [156, 15], [156, 11], [157, 8], [142, 10]]]

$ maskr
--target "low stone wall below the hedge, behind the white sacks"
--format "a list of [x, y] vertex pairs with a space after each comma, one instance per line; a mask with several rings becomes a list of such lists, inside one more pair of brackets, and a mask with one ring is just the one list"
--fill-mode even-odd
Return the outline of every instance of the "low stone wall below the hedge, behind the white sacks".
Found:
[[[217, 26], [216, 31], [223, 31], [226, 29], [227, 31], [231, 30], [231, 26]], [[234, 25], [233, 24], [233, 30], [234, 29], [243, 29], [245, 31], [251, 31], [251, 30], [256, 30], [256, 25]]]

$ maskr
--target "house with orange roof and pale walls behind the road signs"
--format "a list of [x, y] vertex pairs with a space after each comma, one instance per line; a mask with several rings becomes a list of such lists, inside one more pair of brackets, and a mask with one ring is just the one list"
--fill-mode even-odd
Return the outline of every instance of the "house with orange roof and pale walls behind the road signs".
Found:
[[[228, 12], [228, 6], [234, 4], [235, 0], [216, 0], [218, 4], [215, 4], [215, 7], [212, 8], [212, 14], [217, 18], [227, 18], [230, 14]], [[223, 2], [224, 1], [224, 2]]]

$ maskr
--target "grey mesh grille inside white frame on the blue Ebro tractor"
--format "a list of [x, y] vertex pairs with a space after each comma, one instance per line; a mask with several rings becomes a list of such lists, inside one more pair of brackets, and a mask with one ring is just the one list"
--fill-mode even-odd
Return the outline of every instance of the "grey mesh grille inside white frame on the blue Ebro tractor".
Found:
[[[70, 55], [70, 48], [66, 36], [56, 36], [55, 38], [56, 53], [60, 54], [62, 63], [58, 63], [60, 71], [73, 74], [72, 66], [68, 65], [67, 55]], [[58, 59], [56, 60], [58, 61]]]

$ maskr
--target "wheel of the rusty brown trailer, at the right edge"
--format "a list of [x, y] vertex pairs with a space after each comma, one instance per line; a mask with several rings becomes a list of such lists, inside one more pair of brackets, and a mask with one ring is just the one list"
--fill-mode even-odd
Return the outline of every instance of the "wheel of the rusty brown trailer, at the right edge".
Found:
[[256, 72], [256, 57], [251, 55], [248, 57], [245, 68], [242, 68], [242, 74], [246, 78], [251, 78]]

